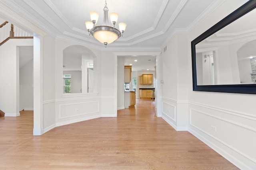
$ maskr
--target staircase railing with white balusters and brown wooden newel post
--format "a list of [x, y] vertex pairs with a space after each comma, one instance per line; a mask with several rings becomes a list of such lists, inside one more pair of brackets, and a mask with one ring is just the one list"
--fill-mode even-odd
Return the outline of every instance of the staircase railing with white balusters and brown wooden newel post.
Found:
[[12, 38], [33, 38], [33, 35], [5, 21], [0, 25], [0, 46]]

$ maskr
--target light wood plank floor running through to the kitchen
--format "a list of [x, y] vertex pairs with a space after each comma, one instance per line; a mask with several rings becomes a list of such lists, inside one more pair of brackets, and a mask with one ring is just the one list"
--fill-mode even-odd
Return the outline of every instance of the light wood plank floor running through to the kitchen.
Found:
[[0, 170], [238, 170], [189, 132], [156, 117], [155, 102], [33, 136], [33, 112], [0, 117]]

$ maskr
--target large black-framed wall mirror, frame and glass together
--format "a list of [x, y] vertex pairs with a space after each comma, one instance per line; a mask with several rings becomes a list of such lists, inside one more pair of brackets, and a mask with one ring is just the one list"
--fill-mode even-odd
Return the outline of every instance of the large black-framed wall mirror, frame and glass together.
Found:
[[256, 0], [191, 42], [193, 91], [256, 94]]

